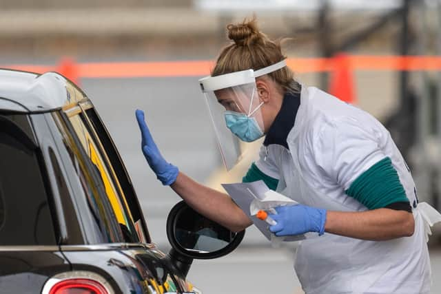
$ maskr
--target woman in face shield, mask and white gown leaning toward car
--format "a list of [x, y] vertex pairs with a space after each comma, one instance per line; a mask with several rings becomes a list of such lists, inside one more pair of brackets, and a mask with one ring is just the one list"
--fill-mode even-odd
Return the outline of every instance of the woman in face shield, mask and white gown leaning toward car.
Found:
[[[200, 80], [227, 168], [245, 142], [266, 135], [244, 182], [264, 180], [300, 204], [278, 207], [276, 235], [317, 232], [302, 242], [295, 269], [306, 293], [429, 293], [427, 222], [409, 168], [373, 116], [315, 87], [300, 85], [280, 45], [256, 21], [228, 25], [212, 75]], [[136, 111], [143, 154], [164, 185], [219, 224], [252, 221], [225, 193], [194, 182], [166, 162], [144, 114]]]

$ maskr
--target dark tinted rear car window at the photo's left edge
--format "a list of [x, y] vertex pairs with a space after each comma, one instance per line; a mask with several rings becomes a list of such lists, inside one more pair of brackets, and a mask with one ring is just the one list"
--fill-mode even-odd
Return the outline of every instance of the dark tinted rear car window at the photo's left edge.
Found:
[[0, 114], [0, 245], [57, 244], [43, 178], [27, 116]]

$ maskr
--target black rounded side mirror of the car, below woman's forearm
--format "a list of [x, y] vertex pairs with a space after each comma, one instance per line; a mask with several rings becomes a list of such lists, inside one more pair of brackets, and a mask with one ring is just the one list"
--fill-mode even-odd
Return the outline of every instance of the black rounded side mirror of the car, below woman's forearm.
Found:
[[178, 202], [167, 218], [167, 238], [187, 258], [212, 259], [232, 252], [243, 240], [238, 233], [205, 218], [184, 201]]

